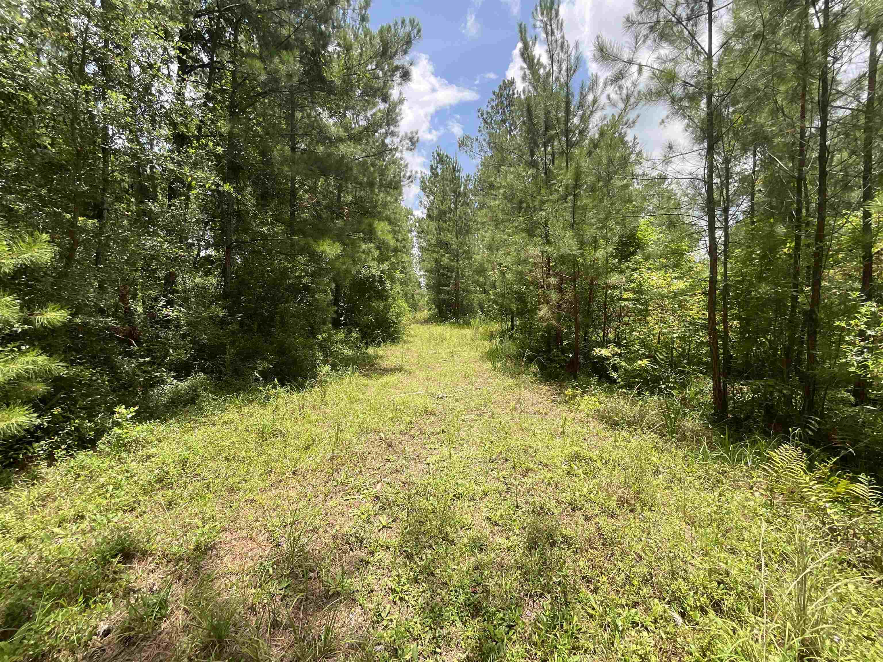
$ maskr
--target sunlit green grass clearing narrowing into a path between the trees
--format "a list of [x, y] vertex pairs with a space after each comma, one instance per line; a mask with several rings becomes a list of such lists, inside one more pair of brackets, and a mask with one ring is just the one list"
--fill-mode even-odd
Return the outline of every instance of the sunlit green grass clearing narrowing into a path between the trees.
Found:
[[15, 478], [0, 658], [883, 659], [864, 493], [487, 352], [417, 325]]

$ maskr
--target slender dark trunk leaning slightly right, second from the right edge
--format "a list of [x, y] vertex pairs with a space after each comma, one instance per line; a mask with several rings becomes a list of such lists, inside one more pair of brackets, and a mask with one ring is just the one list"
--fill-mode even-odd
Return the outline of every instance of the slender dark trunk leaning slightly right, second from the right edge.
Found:
[[830, 0], [825, 0], [822, 9], [822, 70], [820, 73], [821, 89], [819, 91], [819, 207], [816, 217], [816, 238], [812, 244], [812, 284], [810, 295], [810, 311], [806, 324], [806, 380], [804, 381], [804, 414], [811, 416], [816, 412], [816, 390], [818, 388], [818, 335], [819, 308], [822, 294], [822, 260], [825, 253], [825, 222], [827, 214], [827, 129], [828, 129], [828, 56], [831, 49], [829, 28], [831, 7]]

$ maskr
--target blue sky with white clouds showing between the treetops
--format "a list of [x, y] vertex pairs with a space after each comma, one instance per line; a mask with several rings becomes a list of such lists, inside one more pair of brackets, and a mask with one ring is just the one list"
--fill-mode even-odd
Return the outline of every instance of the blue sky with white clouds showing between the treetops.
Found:
[[[412, 16], [423, 30], [412, 54], [411, 84], [402, 90], [403, 128], [418, 131], [420, 139], [417, 151], [405, 155], [411, 169], [425, 169], [436, 146], [455, 153], [457, 138], [475, 132], [476, 111], [502, 79], [520, 77], [517, 26], [519, 20], [530, 26], [532, 9], [532, 0], [374, 0], [375, 27]], [[565, 34], [579, 41], [586, 72], [595, 35], [622, 40], [623, 16], [630, 9], [630, 0], [562, 0]], [[649, 152], [678, 137], [675, 129], [660, 127], [664, 115], [664, 109], [641, 109], [635, 132]], [[464, 154], [460, 159], [474, 168]], [[418, 206], [416, 186], [405, 192], [405, 204]]]

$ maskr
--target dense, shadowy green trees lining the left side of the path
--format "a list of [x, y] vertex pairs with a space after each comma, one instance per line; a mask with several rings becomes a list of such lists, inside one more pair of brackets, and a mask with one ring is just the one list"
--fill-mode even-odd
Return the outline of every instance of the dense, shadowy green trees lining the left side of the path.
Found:
[[[0, 33], [0, 217], [43, 263], [4, 253], [3, 344], [67, 364], [0, 461], [93, 443], [118, 406], [168, 406], [201, 375], [306, 380], [401, 332], [414, 21], [373, 31], [343, 0], [2, 0]], [[19, 299], [47, 313], [19, 324]], [[67, 324], [37, 323], [51, 302]]]

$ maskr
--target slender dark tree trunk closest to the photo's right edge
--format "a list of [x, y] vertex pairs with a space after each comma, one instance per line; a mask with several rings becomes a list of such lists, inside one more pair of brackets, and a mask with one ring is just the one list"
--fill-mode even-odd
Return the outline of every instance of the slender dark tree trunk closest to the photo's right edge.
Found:
[[[873, 245], [873, 226], [872, 213], [868, 207], [869, 203], [874, 199], [874, 183], [873, 183], [873, 160], [874, 160], [874, 138], [876, 137], [876, 127], [874, 123], [874, 96], [877, 87], [877, 43], [878, 43], [878, 26], [873, 26], [869, 34], [870, 55], [868, 57], [868, 95], [864, 102], [864, 164], [862, 168], [862, 288], [859, 295], [864, 303], [870, 302], [874, 296], [873, 275], [874, 275], [874, 245]], [[867, 335], [862, 335], [863, 345], [867, 344]], [[863, 348], [864, 353], [867, 347]], [[854, 397], [856, 404], [864, 404], [868, 401], [868, 383], [862, 373], [856, 378], [856, 386], [854, 389]]]

